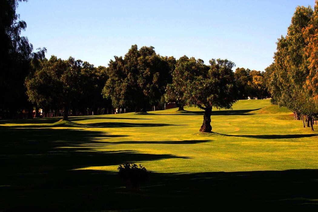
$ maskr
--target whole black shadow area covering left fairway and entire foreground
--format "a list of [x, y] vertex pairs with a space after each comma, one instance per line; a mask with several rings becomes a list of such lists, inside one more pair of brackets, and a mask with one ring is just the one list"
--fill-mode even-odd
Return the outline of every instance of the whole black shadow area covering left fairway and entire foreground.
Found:
[[195, 211], [219, 206], [308, 210], [317, 206], [316, 169], [151, 173], [139, 192], [128, 192], [117, 173], [74, 169], [180, 156], [111, 148], [94, 151], [92, 146], [110, 145], [96, 138], [116, 137], [98, 131], [0, 130], [0, 210], [4, 211]]

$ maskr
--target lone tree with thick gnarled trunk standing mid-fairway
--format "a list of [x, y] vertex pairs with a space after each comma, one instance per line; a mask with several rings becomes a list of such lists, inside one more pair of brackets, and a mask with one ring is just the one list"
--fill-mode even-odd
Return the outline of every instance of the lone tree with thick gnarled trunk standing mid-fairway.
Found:
[[[196, 105], [204, 110], [203, 124], [200, 132], [211, 133], [212, 106], [218, 109], [230, 109], [237, 99], [237, 88], [232, 68], [235, 64], [227, 59], [211, 59], [210, 65], [203, 60], [183, 58], [176, 65], [182, 67], [184, 79], [181, 90], [183, 98], [189, 105]], [[175, 75], [174, 75], [175, 76]]]

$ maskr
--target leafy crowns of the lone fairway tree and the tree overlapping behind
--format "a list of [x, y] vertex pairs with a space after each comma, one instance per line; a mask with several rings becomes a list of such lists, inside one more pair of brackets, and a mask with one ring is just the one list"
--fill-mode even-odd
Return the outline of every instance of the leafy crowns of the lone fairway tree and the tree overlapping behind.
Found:
[[167, 85], [166, 100], [200, 108], [231, 108], [236, 101], [236, 83], [229, 60], [211, 59], [210, 66], [201, 59], [181, 57]]

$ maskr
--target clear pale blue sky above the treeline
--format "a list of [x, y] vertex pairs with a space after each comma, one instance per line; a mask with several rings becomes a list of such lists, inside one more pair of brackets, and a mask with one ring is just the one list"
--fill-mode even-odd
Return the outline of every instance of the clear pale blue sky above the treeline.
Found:
[[133, 44], [154, 46], [163, 56], [227, 58], [236, 67], [263, 71], [276, 41], [286, 35], [297, 5], [315, 0], [97, 1], [29, 0], [17, 13], [34, 49], [47, 48], [107, 66]]

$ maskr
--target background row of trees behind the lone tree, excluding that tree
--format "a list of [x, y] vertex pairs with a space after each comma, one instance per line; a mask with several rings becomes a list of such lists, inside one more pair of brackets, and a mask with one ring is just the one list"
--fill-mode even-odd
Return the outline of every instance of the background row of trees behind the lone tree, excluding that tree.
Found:
[[[175, 98], [177, 84], [171, 91], [177, 63], [189, 59], [187, 56], [176, 60], [156, 54], [152, 46], [138, 49], [137, 45], [132, 45], [124, 58], [115, 56], [108, 67], [94, 67], [72, 57], [62, 60], [52, 55], [47, 59], [44, 54], [45, 48], [41, 51], [41, 57], [28, 59], [29, 73], [23, 82], [29, 107], [20, 111], [33, 112], [35, 109], [35, 117], [39, 117], [40, 108], [44, 116], [51, 111], [54, 112], [52, 116], [62, 115], [67, 120], [67, 116], [87, 114], [87, 110], [93, 114], [106, 114], [114, 113], [114, 108], [125, 112], [147, 112], [152, 106], [169, 102], [175, 102], [179, 109], [190, 105], [184, 98], [183, 101]], [[198, 60], [207, 67], [203, 60]], [[237, 99], [269, 97], [261, 81], [263, 72], [244, 68], [236, 70], [233, 76], [238, 84]], [[255, 80], [255, 76], [260, 80]], [[181, 79], [178, 81], [181, 82]], [[17, 113], [14, 109], [2, 107], [1, 118], [19, 118], [12, 111]]]

